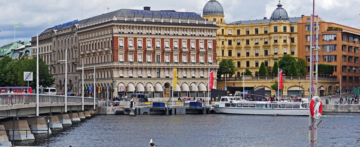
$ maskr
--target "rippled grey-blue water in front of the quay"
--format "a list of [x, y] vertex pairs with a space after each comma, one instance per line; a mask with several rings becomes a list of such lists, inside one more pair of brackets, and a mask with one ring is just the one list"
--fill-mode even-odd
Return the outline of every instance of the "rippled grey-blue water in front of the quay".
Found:
[[[359, 113], [324, 113], [318, 147], [360, 146]], [[53, 129], [50, 146], [306, 147], [309, 117], [269, 115], [95, 115]], [[17, 146], [46, 146], [46, 134]]]

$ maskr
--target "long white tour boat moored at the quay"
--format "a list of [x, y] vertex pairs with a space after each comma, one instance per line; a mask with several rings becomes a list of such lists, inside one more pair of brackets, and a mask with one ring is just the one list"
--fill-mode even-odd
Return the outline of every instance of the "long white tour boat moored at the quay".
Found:
[[212, 105], [216, 113], [255, 115], [309, 115], [309, 100], [288, 101], [246, 101], [240, 96], [222, 96]]

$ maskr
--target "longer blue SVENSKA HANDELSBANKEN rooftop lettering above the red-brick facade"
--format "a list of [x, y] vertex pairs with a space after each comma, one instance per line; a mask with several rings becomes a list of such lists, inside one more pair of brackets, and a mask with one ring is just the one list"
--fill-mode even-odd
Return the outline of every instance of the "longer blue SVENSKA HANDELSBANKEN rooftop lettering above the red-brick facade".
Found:
[[187, 12], [169, 12], [169, 11], [150, 11], [150, 10], [130, 10], [130, 14], [140, 15], [164, 15], [164, 16], [190, 16], [190, 17], [201, 17], [201, 13], [187, 13]]

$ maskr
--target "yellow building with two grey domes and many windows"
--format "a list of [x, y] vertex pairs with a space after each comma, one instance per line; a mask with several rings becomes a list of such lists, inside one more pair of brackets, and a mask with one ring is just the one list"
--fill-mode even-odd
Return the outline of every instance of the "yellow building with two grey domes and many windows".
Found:
[[282, 4], [277, 5], [270, 19], [224, 22], [224, 10], [216, 0], [210, 0], [204, 6], [203, 18], [216, 21], [217, 57], [233, 59], [240, 76], [243, 68], [248, 68], [253, 75], [261, 62], [273, 66], [283, 54], [297, 57], [297, 23], [301, 17], [289, 18]]

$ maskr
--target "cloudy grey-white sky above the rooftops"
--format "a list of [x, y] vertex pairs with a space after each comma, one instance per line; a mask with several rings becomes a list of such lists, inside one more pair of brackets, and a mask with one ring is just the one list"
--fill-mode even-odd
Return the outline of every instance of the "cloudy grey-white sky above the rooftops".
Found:
[[[176, 10], [201, 13], [208, 0], [0, 0], [0, 47], [14, 41], [30, 41], [47, 28], [72, 20], [119, 9]], [[278, 0], [218, 0], [224, 8], [225, 21], [270, 18]], [[312, 0], [282, 0], [290, 17], [312, 13]], [[315, 13], [327, 22], [360, 29], [360, 0], [315, 0]], [[81, 16], [83, 15], [83, 16]]]

